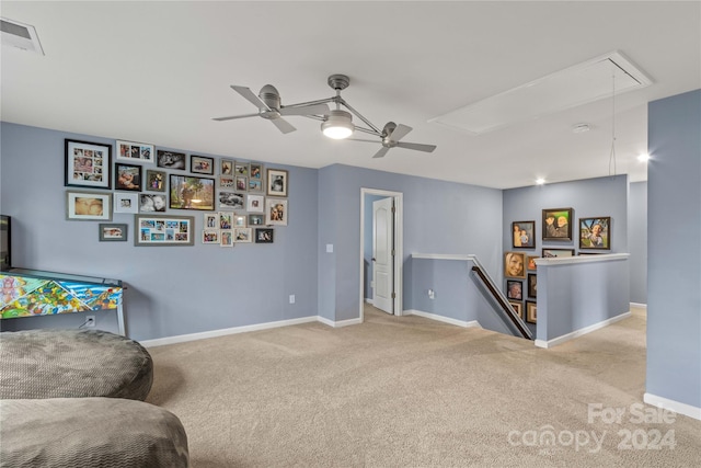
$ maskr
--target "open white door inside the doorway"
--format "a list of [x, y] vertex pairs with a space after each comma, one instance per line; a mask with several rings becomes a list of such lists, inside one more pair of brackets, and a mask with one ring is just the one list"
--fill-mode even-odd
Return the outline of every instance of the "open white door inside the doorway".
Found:
[[394, 199], [372, 202], [372, 305], [394, 313]]

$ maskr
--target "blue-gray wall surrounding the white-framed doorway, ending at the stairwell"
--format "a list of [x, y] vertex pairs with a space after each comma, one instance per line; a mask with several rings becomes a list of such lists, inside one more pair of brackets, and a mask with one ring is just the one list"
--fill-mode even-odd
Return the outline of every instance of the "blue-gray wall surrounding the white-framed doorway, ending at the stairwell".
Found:
[[[498, 272], [502, 191], [335, 164], [320, 171], [319, 308], [325, 318], [358, 317], [360, 292], [360, 189], [403, 193], [403, 307], [412, 309], [411, 253], [474, 253]], [[335, 275], [335, 276], [334, 276]]]

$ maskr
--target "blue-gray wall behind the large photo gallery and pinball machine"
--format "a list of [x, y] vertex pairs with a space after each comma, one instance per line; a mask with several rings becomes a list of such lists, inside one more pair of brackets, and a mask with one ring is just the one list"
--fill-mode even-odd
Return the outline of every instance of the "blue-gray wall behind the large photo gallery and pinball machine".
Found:
[[115, 214], [113, 221], [129, 225], [129, 240], [99, 242], [97, 221], [66, 220], [64, 139], [115, 139], [1, 125], [0, 212], [13, 218], [14, 265], [124, 281], [131, 338], [317, 316], [317, 170], [272, 165], [288, 170], [290, 181], [289, 225], [275, 227], [273, 244], [204, 246], [199, 237], [206, 212], [174, 209], [169, 213], [195, 217], [195, 246], [135, 247], [134, 215], [127, 214]]

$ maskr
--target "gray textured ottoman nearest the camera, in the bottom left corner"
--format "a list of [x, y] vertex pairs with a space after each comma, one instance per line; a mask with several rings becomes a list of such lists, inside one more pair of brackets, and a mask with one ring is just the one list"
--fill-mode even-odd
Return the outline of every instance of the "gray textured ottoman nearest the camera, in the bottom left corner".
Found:
[[0, 467], [185, 468], [187, 436], [171, 412], [118, 398], [0, 401]]

